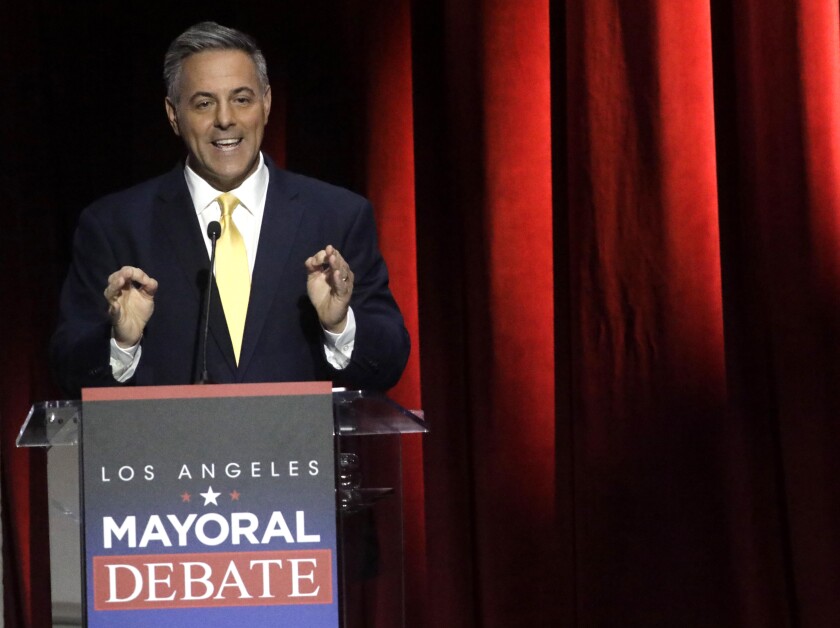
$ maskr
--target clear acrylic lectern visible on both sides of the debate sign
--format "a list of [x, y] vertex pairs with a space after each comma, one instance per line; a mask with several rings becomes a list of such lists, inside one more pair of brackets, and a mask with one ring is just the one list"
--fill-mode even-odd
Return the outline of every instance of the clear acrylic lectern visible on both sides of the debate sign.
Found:
[[[339, 595], [344, 628], [404, 625], [401, 438], [428, 431], [422, 412], [386, 396], [334, 389]], [[48, 448], [53, 626], [83, 625], [79, 511], [80, 401], [29, 411], [18, 447]]]

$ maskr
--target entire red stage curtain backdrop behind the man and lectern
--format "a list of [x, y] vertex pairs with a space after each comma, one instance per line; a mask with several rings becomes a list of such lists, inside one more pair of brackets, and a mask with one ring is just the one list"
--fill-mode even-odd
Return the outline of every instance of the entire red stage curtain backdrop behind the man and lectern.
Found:
[[432, 425], [410, 627], [836, 623], [836, 0], [45, 0], [0, 8], [7, 626], [49, 625], [13, 441], [75, 221], [182, 156], [160, 62], [207, 18], [263, 44], [267, 151], [374, 201]]

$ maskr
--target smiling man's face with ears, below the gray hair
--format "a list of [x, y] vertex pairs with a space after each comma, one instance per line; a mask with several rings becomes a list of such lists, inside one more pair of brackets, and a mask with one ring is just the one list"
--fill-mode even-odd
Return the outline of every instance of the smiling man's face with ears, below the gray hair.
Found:
[[239, 186], [259, 163], [271, 89], [260, 86], [254, 62], [241, 50], [207, 50], [184, 60], [178, 102], [166, 99], [188, 163], [214, 188]]

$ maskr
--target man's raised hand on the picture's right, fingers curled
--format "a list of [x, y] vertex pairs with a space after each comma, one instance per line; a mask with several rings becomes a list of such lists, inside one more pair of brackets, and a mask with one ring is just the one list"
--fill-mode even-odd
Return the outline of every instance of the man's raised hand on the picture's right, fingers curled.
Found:
[[306, 292], [324, 329], [344, 331], [353, 294], [353, 271], [333, 245], [306, 260]]

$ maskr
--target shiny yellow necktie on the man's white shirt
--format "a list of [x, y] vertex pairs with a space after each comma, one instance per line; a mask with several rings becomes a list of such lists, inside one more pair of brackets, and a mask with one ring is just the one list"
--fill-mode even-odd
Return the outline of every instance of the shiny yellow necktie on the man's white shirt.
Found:
[[239, 199], [224, 193], [216, 199], [222, 208], [222, 235], [216, 244], [216, 285], [222, 297], [222, 308], [228, 324], [233, 354], [239, 365], [242, 350], [242, 336], [245, 333], [245, 316], [248, 313], [248, 298], [251, 294], [251, 271], [248, 268], [248, 252], [242, 234], [233, 223], [233, 210]]

